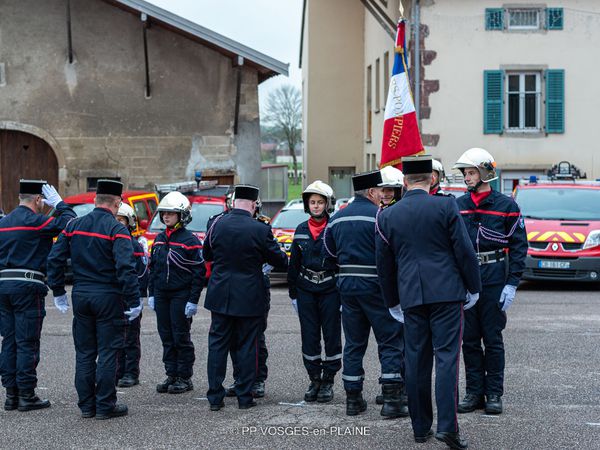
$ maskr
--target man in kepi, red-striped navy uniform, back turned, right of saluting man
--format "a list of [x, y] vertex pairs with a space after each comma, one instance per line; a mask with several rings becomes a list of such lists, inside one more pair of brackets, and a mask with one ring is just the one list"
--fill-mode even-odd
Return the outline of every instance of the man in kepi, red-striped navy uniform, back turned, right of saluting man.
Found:
[[117, 404], [117, 358], [125, 346], [127, 323], [142, 312], [131, 236], [115, 219], [123, 184], [98, 180], [96, 207], [74, 219], [48, 257], [48, 285], [68, 304], [65, 266], [73, 265], [75, 388], [82, 417], [110, 419], [127, 414]]

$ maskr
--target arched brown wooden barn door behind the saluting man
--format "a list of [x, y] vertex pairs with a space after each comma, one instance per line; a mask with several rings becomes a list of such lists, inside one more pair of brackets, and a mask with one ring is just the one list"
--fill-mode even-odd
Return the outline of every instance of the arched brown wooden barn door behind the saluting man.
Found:
[[19, 179], [47, 180], [58, 189], [58, 161], [37, 136], [0, 130], [0, 208], [9, 213], [19, 204]]

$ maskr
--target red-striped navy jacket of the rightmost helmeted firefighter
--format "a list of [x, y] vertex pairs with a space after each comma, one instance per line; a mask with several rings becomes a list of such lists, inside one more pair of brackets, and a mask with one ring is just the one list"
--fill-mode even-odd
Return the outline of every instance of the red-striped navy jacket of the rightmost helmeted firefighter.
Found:
[[[481, 265], [483, 284], [518, 286], [525, 269], [527, 233], [517, 203], [511, 197], [495, 190], [492, 190], [479, 206], [475, 206], [468, 192], [457, 198], [456, 202], [476, 252], [508, 249], [508, 268], [505, 262]], [[480, 227], [482, 227], [481, 231]], [[486, 229], [493, 230], [500, 235], [510, 236], [504, 240], [499, 239], [499, 241], [489, 239], [494, 236], [490, 236], [489, 232], [486, 233]]]

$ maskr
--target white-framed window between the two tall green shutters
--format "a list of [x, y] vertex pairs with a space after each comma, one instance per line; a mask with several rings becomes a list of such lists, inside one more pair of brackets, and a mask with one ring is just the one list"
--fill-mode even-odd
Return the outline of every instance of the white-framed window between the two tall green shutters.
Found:
[[540, 131], [541, 73], [507, 73], [508, 131]]

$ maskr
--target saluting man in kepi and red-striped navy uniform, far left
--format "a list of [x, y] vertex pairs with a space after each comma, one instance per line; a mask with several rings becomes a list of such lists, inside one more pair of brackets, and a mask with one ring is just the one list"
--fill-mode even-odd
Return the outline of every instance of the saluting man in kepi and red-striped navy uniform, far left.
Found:
[[[44, 203], [56, 208], [55, 217], [41, 214]], [[48, 292], [46, 258], [52, 238], [74, 217], [71, 207], [45, 181], [21, 180], [19, 206], [0, 220], [0, 375], [7, 411], [50, 406], [35, 395]]]

